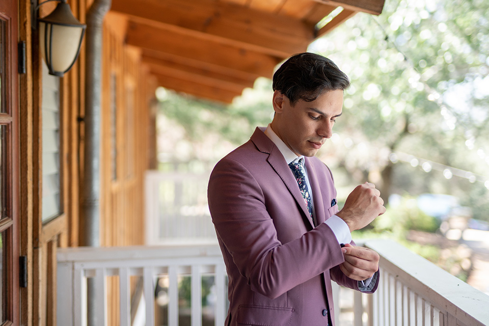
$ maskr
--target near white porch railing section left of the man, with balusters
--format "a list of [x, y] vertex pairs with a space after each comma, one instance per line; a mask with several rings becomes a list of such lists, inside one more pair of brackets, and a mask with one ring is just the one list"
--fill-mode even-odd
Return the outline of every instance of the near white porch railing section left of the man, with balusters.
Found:
[[[95, 313], [97, 326], [107, 325], [107, 280], [118, 277], [121, 326], [155, 324], [155, 288], [166, 279], [168, 320], [178, 325], [179, 281], [191, 278], [191, 325], [202, 325], [202, 279], [214, 278], [213, 315], [216, 326], [224, 325], [227, 312], [226, 267], [219, 246], [66, 248], [58, 250], [58, 325], [87, 325], [87, 279], [95, 281]], [[140, 322], [131, 322], [131, 277], [141, 277], [144, 307]], [[133, 282], [134, 283], [134, 282]], [[92, 295], [93, 298], [93, 295]], [[132, 307], [134, 308], [134, 307]], [[91, 318], [91, 320], [93, 320]]]

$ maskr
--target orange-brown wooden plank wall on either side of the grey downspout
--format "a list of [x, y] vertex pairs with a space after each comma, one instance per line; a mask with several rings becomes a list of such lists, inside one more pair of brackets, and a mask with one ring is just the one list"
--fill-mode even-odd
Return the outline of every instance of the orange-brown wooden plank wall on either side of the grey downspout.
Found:
[[[91, 0], [69, 0], [74, 15], [84, 22]], [[28, 287], [21, 289], [21, 324], [56, 325], [56, 253], [58, 247], [78, 246], [79, 191], [83, 176], [85, 94], [84, 47], [75, 66], [60, 79], [63, 213], [42, 223], [41, 56], [38, 36], [31, 30], [30, 0], [19, 0], [19, 39], [26, 42], [26, 74], [20, 83], [20, 243], [28, 258]], [[50, 12], [46, 4], [43, 9]], [[44, 16], [45, 12], [41, 12]], [[119, 17], [120, 18], [120, 17]], [[104, 22], [102, 53], [101, 223], [102, 246], [144, 243], [144, 172], [154, 166], [156, 84], [141, 66], [139, 53], [124, 44], [120, 19]], [[117, 158], [111, 156], [110, 75], [117, 75]], [[132, 96], [127, 96], [130, 93]], [[127, 103], [130, 101], [131, 103]], [[128, 110], [130, 110], [128, 112]], [[112, 180], [114, 162], [118, 178]], [[118, 280], [109, 284], [108, 297], [118, 297]], [[109, 324], [118, 324], [118, 299], [111, 301]], [[71, 313], [71, 312], [66, 312]]]

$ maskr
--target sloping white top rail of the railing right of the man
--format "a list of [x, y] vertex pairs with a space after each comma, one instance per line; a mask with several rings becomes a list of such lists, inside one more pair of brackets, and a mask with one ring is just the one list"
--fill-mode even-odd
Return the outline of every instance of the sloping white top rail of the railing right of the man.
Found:
[[[489, 325], [489, 295], [416, 255], [395, 241], [367, 240], [365, 247], [380, 256], [379, 264], [399, 281], [467, 324]], [[382, 276], [381, 276], [382, 277]]]

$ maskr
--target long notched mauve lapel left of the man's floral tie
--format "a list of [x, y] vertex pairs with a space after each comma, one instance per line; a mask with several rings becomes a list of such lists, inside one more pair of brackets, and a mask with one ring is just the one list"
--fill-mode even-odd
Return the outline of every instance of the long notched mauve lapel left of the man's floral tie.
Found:
[[[275, 170], [275, 172], [280, 176], [288, 191], [294, 197], [297, 205], [301, 207], [302, 216], [304, 218], [305, 223], [314, 228], [312, 224], [311, 218], [309, 217], [309, 211], [307, 210], [306, 202], [304, 201], [304, 197], [302, 197], [301, 191], [297, 185], [297, 181], [295, 180], [294, 174], [288, 167], [285, 162], [284, 156], [280, 152], [280, 150], [275, 146], [274, 142], [272, 142], [263, 131], [265, 128], [256, 128], [255, 132], [251, 137], [251, 141], [255, 144], [260, 152], [268, 153], [268, 164]], [[314, 196], [314, 193], [313, 193]], [[314, 197], [315, 198], [315, 197]], [[320, 198], [320, 197], [319, 197]], [[324, 216], [323, 216], [324, 220]]]

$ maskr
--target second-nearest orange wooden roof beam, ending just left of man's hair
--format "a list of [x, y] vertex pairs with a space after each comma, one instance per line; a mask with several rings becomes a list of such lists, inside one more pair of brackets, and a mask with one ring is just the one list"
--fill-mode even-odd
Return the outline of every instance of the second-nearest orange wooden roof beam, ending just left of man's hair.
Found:
[[135, 22], [129, 23], [126, 43], [260, 76], [271, 75], [275, 66], [281, 61], [277, 57], [263, 55], [263, 53], [172, 33]]

